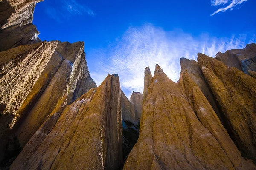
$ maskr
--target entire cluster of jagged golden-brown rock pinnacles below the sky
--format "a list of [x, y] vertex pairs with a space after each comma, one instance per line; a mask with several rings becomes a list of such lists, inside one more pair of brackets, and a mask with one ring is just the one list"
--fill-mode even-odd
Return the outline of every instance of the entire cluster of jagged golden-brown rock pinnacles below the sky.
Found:
[[42, 0], [0, 0], [1, 170], [255, 170], [256, 44], [97, 87], [84, 42], [41, 41]]

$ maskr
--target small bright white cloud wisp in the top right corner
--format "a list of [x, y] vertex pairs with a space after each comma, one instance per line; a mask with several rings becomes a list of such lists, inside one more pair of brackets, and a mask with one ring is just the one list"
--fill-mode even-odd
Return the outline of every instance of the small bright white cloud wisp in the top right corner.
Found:
[[238, 7], [242, 3], [246, 2], [247, 0], [211, 0], [212, 6], [220, 6], [220, 5], [226, 5], [224, 8], [219, 8], [217, 11], [215, 11], [211, 16], [219, 13], [219, 12], [225, 12], [228, 9], [233, 10], [234, 8]]

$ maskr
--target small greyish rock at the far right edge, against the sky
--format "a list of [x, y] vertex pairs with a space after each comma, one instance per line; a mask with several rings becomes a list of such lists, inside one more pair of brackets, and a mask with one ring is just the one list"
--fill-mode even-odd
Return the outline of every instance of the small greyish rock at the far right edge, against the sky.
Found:
[[227, 50], [219, 52], [215, 59], [228, 67], [236, 67], [248, 74], [248, 70], [256, 71], [256, 44], [248, 44], [244, 49]]

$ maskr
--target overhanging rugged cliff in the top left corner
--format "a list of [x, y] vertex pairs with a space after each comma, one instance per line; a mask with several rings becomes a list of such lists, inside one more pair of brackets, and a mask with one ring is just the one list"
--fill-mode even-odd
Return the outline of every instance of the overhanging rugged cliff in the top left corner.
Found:
[[0, 51], [41, 42], [32, 25], [35, 4], [42, 0], [0, 0]]

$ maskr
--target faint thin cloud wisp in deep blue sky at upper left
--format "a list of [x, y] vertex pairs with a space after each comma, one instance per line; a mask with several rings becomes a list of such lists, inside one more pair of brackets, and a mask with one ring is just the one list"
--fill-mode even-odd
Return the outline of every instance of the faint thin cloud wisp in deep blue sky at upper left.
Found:
[[65, 21], [75, 15], [95, 15], [88, 6], [81, 4], [76, 0], [62, 0], [61, 3], [58, 2], [57, 4], [58, 7], [47, 6], [45, 12], [58, 23], [62, 23], [63, 20]]

